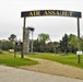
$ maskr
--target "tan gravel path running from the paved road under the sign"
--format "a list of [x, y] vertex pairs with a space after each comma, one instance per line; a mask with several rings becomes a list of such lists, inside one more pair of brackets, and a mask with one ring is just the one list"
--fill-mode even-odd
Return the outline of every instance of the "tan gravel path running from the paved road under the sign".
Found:
[[31, 59], [39, 61], [39, 65], [24, 66], [20, 68], [83, 80], [83, 69], [67, 66], [67, 65], [61, 65], [55, 61], [49, 61], [49, 60], [44, 60], [44, 59], [37, 59], [37, 58], [31, 58]]

